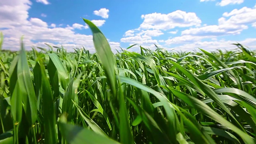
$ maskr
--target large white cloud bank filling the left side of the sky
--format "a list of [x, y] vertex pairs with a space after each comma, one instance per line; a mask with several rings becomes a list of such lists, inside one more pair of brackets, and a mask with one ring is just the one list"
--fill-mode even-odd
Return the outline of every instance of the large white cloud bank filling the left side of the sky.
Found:
[[[4, 49], [19, 50], [20, 37], [24, 35], [24, 44], [27, 50], [31, 46], [47, 47], [44, 43], [60, 46], [68, 51], [84, 46], [87, 50], [95, 51], [92, 35], [78, 34], [74, 32], [73, 25], [56, 27], [56, 24], [48, 24], [39, 18], [28, 18], [29, 0], [0, 1], [0, 28], [4, 34]], [[98, 26], [103, 21], [94, 21]], [[79, 24], [74, 27], [79, 28]], [[84, 26], [86, 27], [86, 26]], [[118, 42], [109, 42], [113, 48], [118, 48]], [[112, 48], [112, 49], [113, 49]]]

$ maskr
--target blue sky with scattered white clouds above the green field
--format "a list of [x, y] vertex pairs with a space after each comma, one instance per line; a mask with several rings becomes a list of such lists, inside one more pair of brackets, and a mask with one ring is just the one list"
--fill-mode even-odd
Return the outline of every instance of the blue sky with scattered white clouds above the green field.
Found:
[[[44, 43], [95, 51], [91, 20], [112, 51], [140, 44], [167, 50], [256, 49], [256, 0], [0, 0], [3, 48]], [[140, 50], [135, 46], [130, 51]]]

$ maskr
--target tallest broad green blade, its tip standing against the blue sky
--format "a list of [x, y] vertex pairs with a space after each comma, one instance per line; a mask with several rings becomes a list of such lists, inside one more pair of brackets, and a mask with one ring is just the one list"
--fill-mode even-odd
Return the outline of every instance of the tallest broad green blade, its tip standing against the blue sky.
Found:
[[110, 45], [108, 44], [108, 40], [105, 38], [104, 34], [102, 34], [100, 29], [95, 26], [95, 24], [93, 24], [90, 20], [86, 20], [84, 18], [83, 20], [92, 30], [95, 50], [104, 69], [106, 70], [106, 76], [109, 81], [112, 94], [116, 96], [116, 63], [114, 60], [114, 54], [112, 53]]

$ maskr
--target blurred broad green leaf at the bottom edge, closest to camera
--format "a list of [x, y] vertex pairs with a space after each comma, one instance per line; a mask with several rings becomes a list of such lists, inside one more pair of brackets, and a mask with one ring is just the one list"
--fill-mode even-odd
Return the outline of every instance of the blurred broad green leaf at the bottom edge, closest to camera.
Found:
[[110, 138], [102, 136], [78, 126], [67, 124], [63, 116], [60, 118], [60, 132], [69, 144], [120, 144]]

